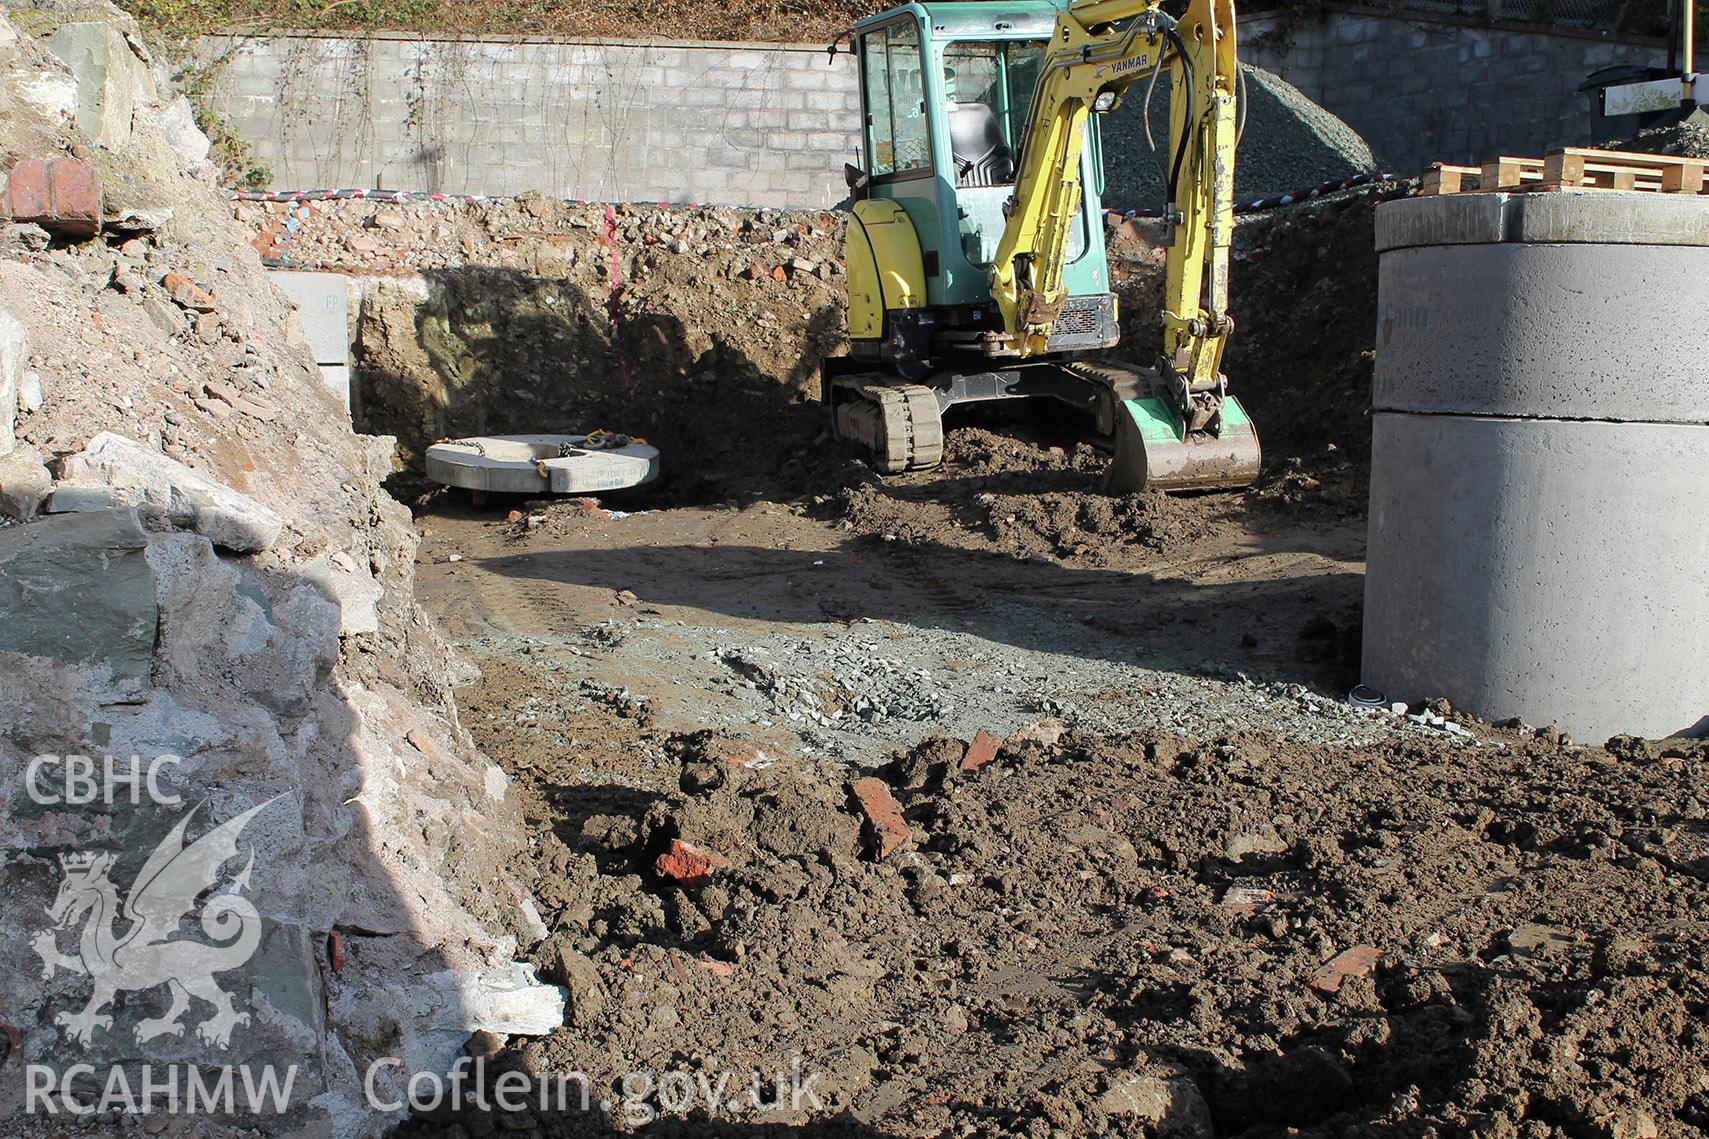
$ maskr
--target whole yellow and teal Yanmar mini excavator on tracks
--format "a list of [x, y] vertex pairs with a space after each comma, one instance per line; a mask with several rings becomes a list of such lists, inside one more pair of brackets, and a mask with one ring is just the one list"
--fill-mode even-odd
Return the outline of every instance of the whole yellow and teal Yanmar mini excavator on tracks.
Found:
[[[1222, 375], [1234, 34], [1230, 0], [1188, 0], [1179, 15], [1159, 0], [907, 3], [854, 26], [849, 352], [822, 378], [837, 438], [882, 472], [926, 470], [943, 460], [948, 407], [1049, 397], [1114, 446], [1111, 491], [1258, 477], [1258, 433]], [[1143, 84], [1152, 137], [1166, 74], [1164, 349], [1136, 368], [1097, 357], [1119, 332], [1095, 120]]]

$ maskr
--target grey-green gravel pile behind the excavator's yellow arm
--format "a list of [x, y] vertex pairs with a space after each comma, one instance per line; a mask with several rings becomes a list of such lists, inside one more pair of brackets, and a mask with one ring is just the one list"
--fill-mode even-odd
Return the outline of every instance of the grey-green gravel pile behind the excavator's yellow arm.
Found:
[[[1246, 72], [1246, 133], [1234, 166], [1234, 195], [1249, 202], [1331, 178], [1377, 169], [1371, 147], [1340, 118], [1323, 109], [1280, 75], [1261, 67]], [[1164, 145], [1169, 133], [1167, 80], [1152, 99], [1152, 133]], [[1150, 209], [1162, 202], [1159, 161], [1145, 142], [1143, 86], [1128, 92], [1118, 111], [1104, 116], [1104, 171], [1109, 209]]]

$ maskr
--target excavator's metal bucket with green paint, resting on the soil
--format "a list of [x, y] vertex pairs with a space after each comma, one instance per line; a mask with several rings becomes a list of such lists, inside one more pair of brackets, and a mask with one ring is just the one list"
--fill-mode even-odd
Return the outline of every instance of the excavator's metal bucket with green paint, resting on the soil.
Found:
[[1166, 398], [1123, 400], [1116, 410], [1116, 457], [1104, 489], [1111, 494], [1193, 491], [1258, 481], [1263, 462], [1258, 429], [1232, 395], [1224, 397], [1217, 434], [1183, 433], [1181, 426]]

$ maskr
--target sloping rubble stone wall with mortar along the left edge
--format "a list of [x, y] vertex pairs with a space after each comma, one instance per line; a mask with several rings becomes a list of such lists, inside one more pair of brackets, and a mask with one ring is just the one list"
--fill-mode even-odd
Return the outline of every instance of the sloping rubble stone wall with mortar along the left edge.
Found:
[[[400, 1074], [562, 1023], [518, 963], [545, 937], [520, 806], [415, 602], [395, 440], [350, 429], [167, 67], [111, 5], [19, 21], [0, 12], [0, 1130], [150, 1110], [152, 1079], [186, 1110], [150, 1132], [379, 1134]], [[27, 205], [34, 171], [99, 193]], [[220, 1072], [280, 1095], [227, 1108]]]

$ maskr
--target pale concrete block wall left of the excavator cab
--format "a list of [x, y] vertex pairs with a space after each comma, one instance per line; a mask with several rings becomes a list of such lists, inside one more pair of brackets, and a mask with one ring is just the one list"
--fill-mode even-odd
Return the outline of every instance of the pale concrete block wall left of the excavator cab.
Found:
[[273, 188], [832, 205], [860, 121], [822, 46], [210, 38]]

